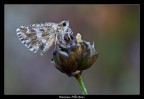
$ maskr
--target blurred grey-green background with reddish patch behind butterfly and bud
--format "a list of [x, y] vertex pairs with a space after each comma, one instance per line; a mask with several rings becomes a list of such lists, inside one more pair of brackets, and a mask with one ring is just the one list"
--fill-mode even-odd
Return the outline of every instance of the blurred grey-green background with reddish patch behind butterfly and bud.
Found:
[[74, 35], [94, 41], [99, 53], [82, 74], [89, 95], [140, 93], [140, 5], [7, 4], [4, 10], [5, 94], [82, 94], [74, 77], [51, 64], [53, 48], [33, 54], [16, 35], [21, 25], [62, 20], [69, 20]]

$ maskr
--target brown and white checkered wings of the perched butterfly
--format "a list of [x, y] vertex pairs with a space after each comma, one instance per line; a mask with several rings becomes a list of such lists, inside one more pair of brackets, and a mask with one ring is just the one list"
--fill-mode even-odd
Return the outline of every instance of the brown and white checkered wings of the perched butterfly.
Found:
[[[54, 23], [45, 23], [20, 26], [16, 32], [19, 40], [30, 51], [36, 53], [41, 46], [43, 46], [42, 50], [44, 51], [52, 46], [55, 37], [53, 25]], [[47, 49], [45, 47], [47, 47]]]

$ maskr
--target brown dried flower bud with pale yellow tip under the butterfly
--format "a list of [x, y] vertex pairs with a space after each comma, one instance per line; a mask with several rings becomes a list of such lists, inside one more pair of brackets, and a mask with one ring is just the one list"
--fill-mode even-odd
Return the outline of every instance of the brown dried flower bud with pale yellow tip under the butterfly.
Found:
[[98, 53], [94, 48], [94, 43], [91, 45], [82, 40], [79, 33], [71, 39], [68, 36], [64, 38], [64, 41], [59, 42], [58, 48], [53, 51], [52, 63], [59, 71], [68, 76], [81, 74], [97, 60]]

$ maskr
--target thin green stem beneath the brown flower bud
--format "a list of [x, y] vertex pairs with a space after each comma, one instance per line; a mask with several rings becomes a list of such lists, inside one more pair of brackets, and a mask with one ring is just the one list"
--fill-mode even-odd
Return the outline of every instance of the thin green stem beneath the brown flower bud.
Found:
[[83, 91], [83, 94], [84, 94], [84, 95], [87, 95], [87, 94], [88, 94], [88, 93], [87, 93], [87, 89], [86, 89], [86, 87], [85, 87], [85, 85], [84, 85], [84, 83], [83, 83], [83, 80], [82, 80], [81, 75], [80, 75], [80, 74], [77, 74], [77, 75], [75, 76], [75, 78], [77, 79], [78, 83], [80, 84], [80, 86], [81, 86], [81, 88], [82, 88], [82, 91]]

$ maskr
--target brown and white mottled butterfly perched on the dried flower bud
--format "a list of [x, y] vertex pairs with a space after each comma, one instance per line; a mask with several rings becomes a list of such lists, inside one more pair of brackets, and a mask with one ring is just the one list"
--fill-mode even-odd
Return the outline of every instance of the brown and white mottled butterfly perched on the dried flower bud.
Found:
[[59, 23], [46, 22], [41, 24], [31, 24], [20, 26], [16, 30], [19, 40], [33, 53], [39, 49], [42, 50], [41, 55], [46, 52], [54, 43], [64, 41], [64, 35], [73, 34], [69, 27], [69, 21], [61, 21]]

